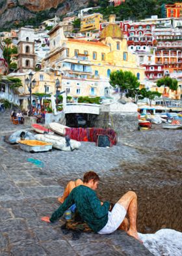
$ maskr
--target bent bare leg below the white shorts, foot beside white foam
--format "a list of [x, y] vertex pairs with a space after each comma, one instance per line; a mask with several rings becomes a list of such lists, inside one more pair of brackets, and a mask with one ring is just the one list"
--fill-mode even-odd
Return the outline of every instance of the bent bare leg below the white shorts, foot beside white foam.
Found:
[[137, 197], [136, 193], [133, 191], [129, 191], [123, 195], [123, 197], [118, 200], [118, 204], [122, 204], [122, 206], [127, 210], [129, 216], [129, 231], [127, 234], [129, 236], [133, 236], [137, 240], [139, 240], [137, 230], [136, 230], [136, 217], [137, 217]]

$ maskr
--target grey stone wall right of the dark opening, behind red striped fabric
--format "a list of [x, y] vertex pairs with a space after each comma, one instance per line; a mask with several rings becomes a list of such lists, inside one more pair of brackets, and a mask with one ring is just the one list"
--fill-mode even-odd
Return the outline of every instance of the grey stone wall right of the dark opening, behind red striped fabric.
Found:
[[136, 131], [138, 129], [137, 112], [101, 112], [95, 121], [96, 127], [111, 127], [118, 133]]

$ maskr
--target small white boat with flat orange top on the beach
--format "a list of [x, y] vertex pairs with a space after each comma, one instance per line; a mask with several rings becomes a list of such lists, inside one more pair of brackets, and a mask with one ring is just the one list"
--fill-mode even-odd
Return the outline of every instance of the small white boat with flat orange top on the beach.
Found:
[[21, 150], [34, 153], [34, 152], [46, 152], [52, 150], [53, 144], [42, 142], [39, 140], [19, 140], [19, 147]]

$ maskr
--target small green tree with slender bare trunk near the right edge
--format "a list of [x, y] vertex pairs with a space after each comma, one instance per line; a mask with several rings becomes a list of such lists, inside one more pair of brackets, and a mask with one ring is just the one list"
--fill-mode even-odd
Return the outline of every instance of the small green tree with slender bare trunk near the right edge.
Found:
[[158, 87], [164, 86], [164, 90], [162, 93], [162, 99], [163, 99], [163, 104], [165, 105], [164, 93], [166, 91], [166, 88], [168, 88], [168, 93], [169, 93], [170, 89], [177, 90], [178, 82], [176, 79], [170, 78], [170, 76], [164, 76], [163, 78], [157, 80], [157, 86]]

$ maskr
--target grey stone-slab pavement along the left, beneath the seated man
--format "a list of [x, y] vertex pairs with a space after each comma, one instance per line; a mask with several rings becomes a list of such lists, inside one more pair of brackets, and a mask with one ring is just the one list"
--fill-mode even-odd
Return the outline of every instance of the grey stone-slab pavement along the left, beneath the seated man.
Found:
[[[57, 196], [63, 191], [58, 183], [61, 172], [39, 168], [27, 162], [34, 157], [10, 146], [2, 135], [12, 130], [7, 118], [0, 123], [0, 255], [151, 255], [140, 242], [116, 231], [110, 235], [83, 233], [79, 240], [64, 234], [57, 223], [40, 217], [58, 208]], [[6, 126], [7, 125], [7, 126]], [[14, 127], [13, 127], [14, 128]], [[19, 127], [18, 127], [19, 128]], [[17, 128], [14, 128], [17, 129]]]

